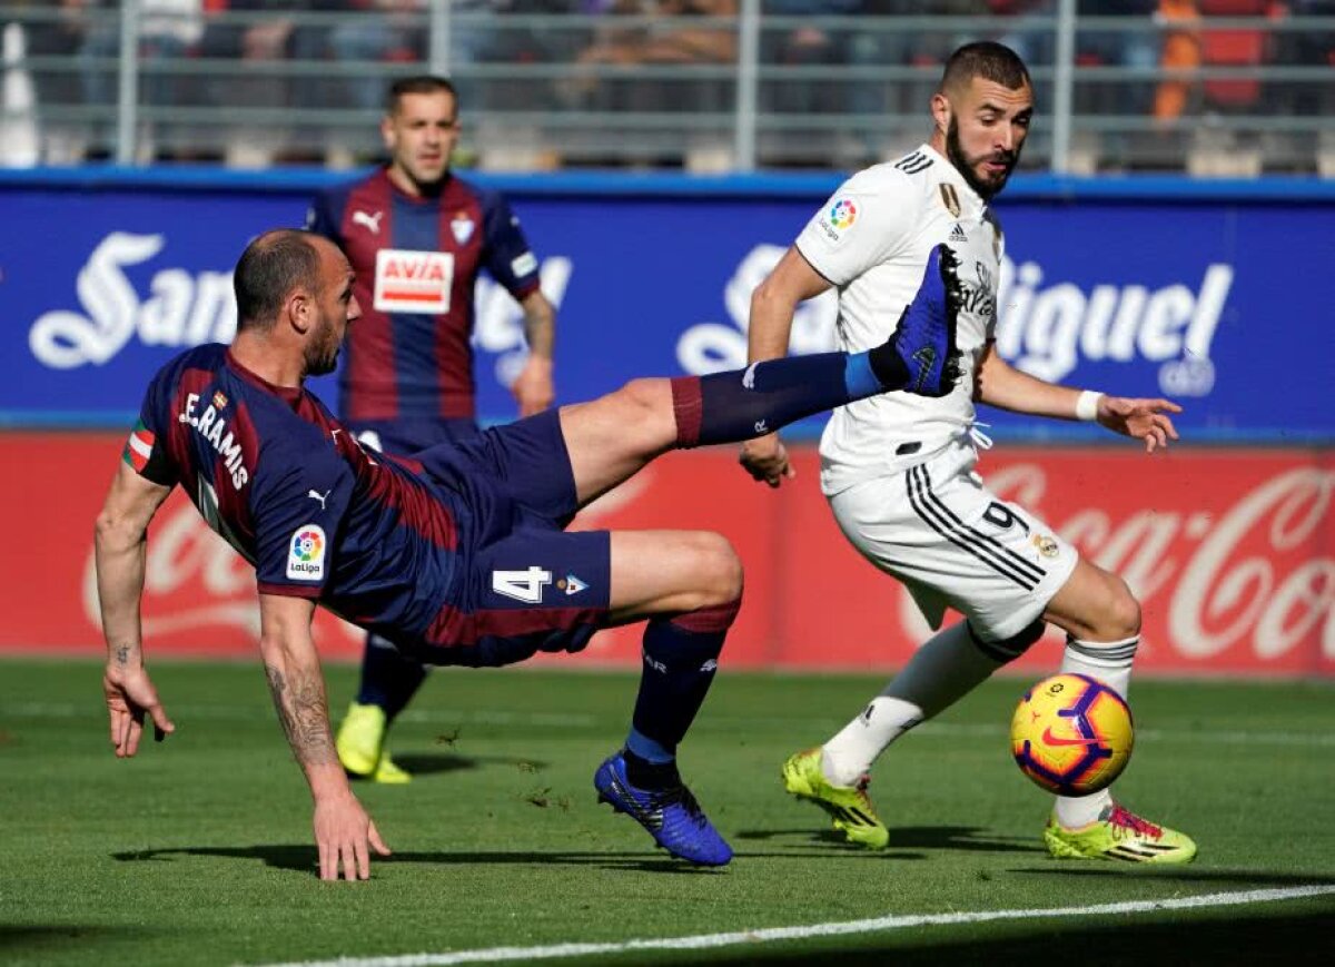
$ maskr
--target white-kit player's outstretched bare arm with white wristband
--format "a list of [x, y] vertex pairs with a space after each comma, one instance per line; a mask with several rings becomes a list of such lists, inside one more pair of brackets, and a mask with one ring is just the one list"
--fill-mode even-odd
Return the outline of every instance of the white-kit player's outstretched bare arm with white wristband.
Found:
[[977, 398], [989, 406], [1056, 419], [1096, 419], [1113, 433], [1145, 441], [1145, 451], [1177, 439], [1169, 414], [1181, 407], [1169, 399], [1139, 399], [1057, 386], [1011, 366], [988, 346], [979, 365]]

